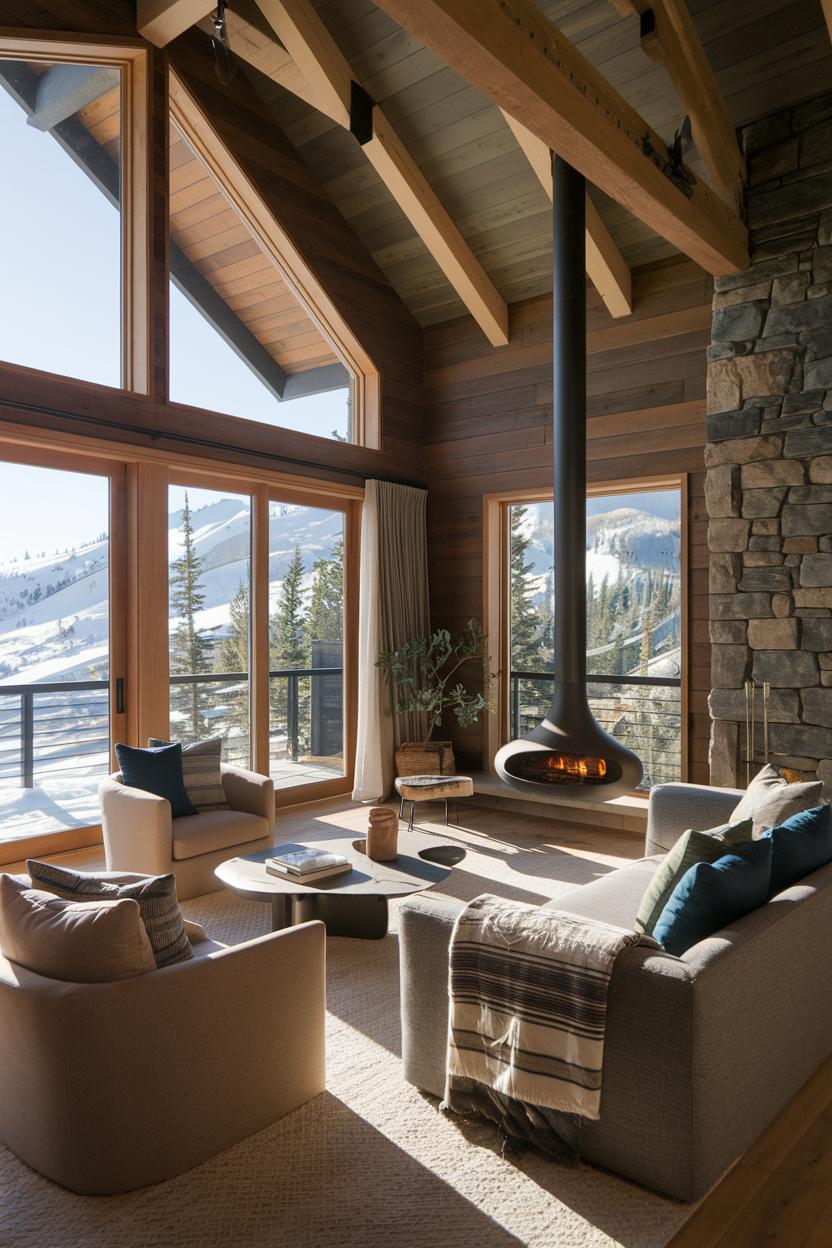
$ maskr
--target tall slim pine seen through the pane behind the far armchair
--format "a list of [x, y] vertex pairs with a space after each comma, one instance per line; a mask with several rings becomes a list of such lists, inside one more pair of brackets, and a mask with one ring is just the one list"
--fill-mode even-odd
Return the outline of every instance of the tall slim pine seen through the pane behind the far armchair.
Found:
[[[185, 495], [182, 510], [182, 553], [171, 563], [171, 614], [177, 624], [171, 636], [171, 673], [197, 675], [211, 670], [212, 643], [205, 629], [197, 628], [196, 617], [205, 605], [202, 560], [196, 553], [191, 508]], [[182, 716], [182, 735], [197, 740], [207, 731], [205, 691], [198, 681], [173, 685], [171, 706]]]

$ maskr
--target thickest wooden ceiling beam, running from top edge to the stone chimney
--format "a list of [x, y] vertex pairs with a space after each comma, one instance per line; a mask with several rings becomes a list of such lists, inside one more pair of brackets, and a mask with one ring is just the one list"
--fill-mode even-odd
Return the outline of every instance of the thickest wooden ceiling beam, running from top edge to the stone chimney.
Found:
[[468, 82], [707, 272], [748, 263], [737, 212], [690, 170], [533, 0], [377, 0]]

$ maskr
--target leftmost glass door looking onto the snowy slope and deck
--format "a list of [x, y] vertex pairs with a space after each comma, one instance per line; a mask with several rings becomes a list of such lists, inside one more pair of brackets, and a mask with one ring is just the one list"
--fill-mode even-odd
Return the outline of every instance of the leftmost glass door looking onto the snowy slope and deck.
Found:
[[[123, 470], [0, 461], [0, 835], [99, 822], [97, 785], [123, 728]], [[115, 527], [114, 527], [114, 520]]]

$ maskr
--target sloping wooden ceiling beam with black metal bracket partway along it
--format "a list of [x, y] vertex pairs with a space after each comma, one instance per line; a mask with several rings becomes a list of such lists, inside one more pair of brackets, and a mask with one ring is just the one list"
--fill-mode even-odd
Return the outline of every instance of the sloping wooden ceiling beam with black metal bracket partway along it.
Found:
[[[316, 107], [349, 129], [352, 70], [316, 10], [308, 0], [257, 4], [319, 101]], [[379, 105], [373, 107], [373, 134], [363, 150], [491, 346], [505, 346], [504, 300]]]

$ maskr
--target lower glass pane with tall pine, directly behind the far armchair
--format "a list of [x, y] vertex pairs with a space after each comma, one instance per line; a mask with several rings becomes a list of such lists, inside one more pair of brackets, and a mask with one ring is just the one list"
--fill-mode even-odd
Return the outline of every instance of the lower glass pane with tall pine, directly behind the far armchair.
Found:
[[171, 740], [222, 736], [223, 759], [251, 758], [251, 498], [170, 488]]

